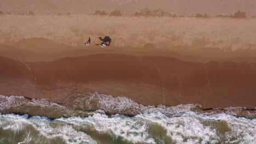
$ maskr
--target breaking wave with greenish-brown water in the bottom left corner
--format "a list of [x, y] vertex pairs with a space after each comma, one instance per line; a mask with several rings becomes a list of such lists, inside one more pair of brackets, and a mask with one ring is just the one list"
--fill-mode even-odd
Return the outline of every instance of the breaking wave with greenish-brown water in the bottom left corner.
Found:
[[[46, 117], [0, 115], [0, 125], [0, 142], [3, 143], [97, 143], [89, 135], [75, 130], [71, 125], [56, 123]], [[15, 137], [14, 140], [9, 139], [10, 133]]]

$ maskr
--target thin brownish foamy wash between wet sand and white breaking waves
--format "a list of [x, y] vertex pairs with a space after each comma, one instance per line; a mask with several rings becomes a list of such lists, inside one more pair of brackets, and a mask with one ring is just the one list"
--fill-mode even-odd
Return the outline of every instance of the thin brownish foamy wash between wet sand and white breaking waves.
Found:
[[[90, 100], [86, 101], [85, 99], [88, 98]], [[110, 102], [104, 101], [106, 98], [110, 100]], [[123, 99], [123, 101], [120, 101], [120, 99]], [[120, 102], [113, 103], [113, 101]], [[186, 112], [195, 112], [205, 116], [225, 113], [226, 115], [231, 115], [237, 118], [256, 118], [256, 107], [254, 109], [247, 109], [246, 107], [203, 109], [201, 105], [198, 104], [144, 106], [127, 97], [112, 97], [111, 95], [98, 94], [96, 92], [87, 96], [84, 95], [83, 98], [77, 98], [72, 102], [69, 101], [71, 102], [69, 105], [57, 104], [49, 99], [31, 99], [22, 96], [4, 95], [0, 95], [0, 102], [0, 113], [4, 115], [28, 115], [28, 117], [40, 116], [47, 117], [51, 120], [68, 117], [89, 117], [96, 115], [97, 113], [107, 116], [118, 114], [134, 117], [136, 115], [159, 112], [167, 117], [178, 117]], [[51, 111], [50, 113], [49, 110]]]

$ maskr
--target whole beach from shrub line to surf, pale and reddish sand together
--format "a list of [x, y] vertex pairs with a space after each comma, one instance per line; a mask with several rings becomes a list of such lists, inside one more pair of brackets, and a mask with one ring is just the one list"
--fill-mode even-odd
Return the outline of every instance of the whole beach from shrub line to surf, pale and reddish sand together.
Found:
[[[24, 90], [10, 92], [8, 85], [2, 87], [4, 95], [61, 102], [79, 89], [143, 105], [255, 107], [254, 18], [38, 14], [0, 19], [1, 55], [26, 71], [26, 78], [19, 78]], [[103, 35], [112, 38], [109, 47], [95, 45]], [[91, 45], [85, 46], [88, 37]], [[3, 85], [16, 83], [2, 77]]]

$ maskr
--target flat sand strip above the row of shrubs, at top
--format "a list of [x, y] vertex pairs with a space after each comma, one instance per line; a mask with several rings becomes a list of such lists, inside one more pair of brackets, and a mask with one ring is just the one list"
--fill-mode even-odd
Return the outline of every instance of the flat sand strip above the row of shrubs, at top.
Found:
[[256, 14], [254, 0], [1, 0], [0, 9], [11, 13], [89, 14], [94, 10], [110, 12], [120, 9], [123, 15], [133, 15], [144, 8], [164, 9], [171, 14], [191, 15], [196, 13], [210, 15], [230, 15], [237, 10], [246, 11], [248, 15]]

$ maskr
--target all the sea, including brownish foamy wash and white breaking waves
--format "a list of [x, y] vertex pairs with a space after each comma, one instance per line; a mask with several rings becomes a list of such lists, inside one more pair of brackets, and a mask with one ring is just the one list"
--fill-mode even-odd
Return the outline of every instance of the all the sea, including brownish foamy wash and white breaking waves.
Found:
[[0, 95], [0, 143], [256, 143], [255, 115], [238, 116], [241, 107], [202, 112], [193, 104], [144, 106], [80, 94], [67, 98], [68, 106]]

